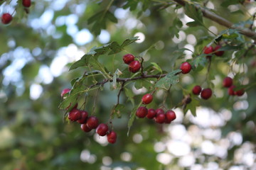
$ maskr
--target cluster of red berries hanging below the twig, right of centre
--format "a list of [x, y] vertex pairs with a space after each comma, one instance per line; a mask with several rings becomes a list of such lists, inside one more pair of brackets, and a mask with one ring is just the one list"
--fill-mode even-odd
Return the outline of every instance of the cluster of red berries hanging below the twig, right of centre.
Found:
[[[153, 101], [153, 96], [151, 94], [145, 94], [142, 97], [143, 104], [149, 104], [151, 101]], [[156, 123], [171, 123], [172, 120], [176, 119], [176, 114], [174, 111], [166, 111], [166, 113], [164, 113], [164, 110], [161, 108], [157, 108], [155, 110], [154, 108], [147, 109], [144, 106], [137, 109], [136, 115], [138, 118], [154, 118]]]

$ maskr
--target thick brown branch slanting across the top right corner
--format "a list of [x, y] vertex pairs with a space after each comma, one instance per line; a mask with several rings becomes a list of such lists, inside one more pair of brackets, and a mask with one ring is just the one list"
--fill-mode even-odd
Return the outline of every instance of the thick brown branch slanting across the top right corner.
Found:
[[[173, 0], [176, 3], [180, 4], [181, 6], [185, 6], [186, 5], [186, 1], [185, 0]], [[252, 30], [248, 29], [248, 28], [243, 28], [240, 26], [234, 26], [233, 23], [231, 23], [230, 21], [226, 20], [225, 18], [218, 16], [217, 14], [207, 10], [206, 8], [202, 8], [201, 6], [196, 6], [196, 8], [200, 11], [202, 11], [203, 16], [210, 19], [211, 21], [214, 21], [215, 23], [220, 24], [221, 26], [225, 26], [227, 28], [233, 28], [238, 30], [241, 34], [247, 36], [248, 38], [251, 38], [252, 40], [256, 40], [256, 33], [253, 32]]]

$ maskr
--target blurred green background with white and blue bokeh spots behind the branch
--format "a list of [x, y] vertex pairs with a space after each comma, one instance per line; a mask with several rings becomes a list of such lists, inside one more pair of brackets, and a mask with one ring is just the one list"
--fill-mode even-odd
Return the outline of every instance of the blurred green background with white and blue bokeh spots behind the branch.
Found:
[[[246, 21], [256, 12], [254, 1], [229, 6], [220, 6], [221, 2], [206, 1], [206, 6], [233, 23]], [[122, 94], [126, 108], [122, 118], [113, 120], [118, 135], [114, 145], [94, 132], [85, 134], [78, 124], [63, 121], [64, 112], [58, 109], [60, 92], [83, 72], [83, 68], [68, 69], [92, 47], [139, 36], [126, 51], [104, 60], [106, 66], [114, 61], [124, 69], [123, 55], [139, 55], [154, 45], [144, 56], [145, 62], [156, 62], [169, 72], [213, 40], [206, 28], [215, 34], [226, 29], [208, 19], [204, 19], [206, 28], [186, 26], [193, 20], [172, 1], [145, 1], [148, 6], [139, 3], [132, 11], [123, 8], [125, 3], [112, 1], [110, 11], [117, 23], [107, 21], [100, 35], [95, 35], [87, 20], [110, 1], [38, 0], [29, 13], [21, 1], [1, 2], [0, 13], [13, 13], [14, 20], [0, 26], [0, 169], [256, 169], [256, 90], [250, 88], [240, 98], [228, 97], [221, 85], [223, 77], [238, 74], [243, 84], [255, 84], [256, 58], [250, 52], [233, 65], [232, 72], [228, 72], [228, 60], [215, 60], [214, 96], [200, 102], [196, 117], [176, 108], [177, 118], [171, 125], [135, 120], [127, 136], [132, 104]], [[174, 25], [175, 18], [181, 23]], [[192, 52], [186, 50], [174, 62], [174, 51], [183, 47]], [[225, 59], [232, 56], [233, 52], [225, 53]], [[196, 84], [207, 86], [205, 75], [206, 69], [183, 75], [181, 86], [188, 90]], [[107, 121], [117, 100], [118, 91], [109, 89], [105, 87], [97, 103], [102, 121]], [[139, 103], [146, 89], [131, 89]], [[164, 95], [157, 91], [151, 106], [159, 106]], [[182, 89], [174, 86], [166, 102], [181, 100]]]

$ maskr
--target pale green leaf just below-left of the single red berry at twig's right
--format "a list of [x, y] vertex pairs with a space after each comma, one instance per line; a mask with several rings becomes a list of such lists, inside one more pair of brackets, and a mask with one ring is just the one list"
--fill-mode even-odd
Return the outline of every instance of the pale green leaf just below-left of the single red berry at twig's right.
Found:
[[163, 77], [159, 81], [157, 81], [155, 87], [169, 90], [171, 85], [178, 83], [178, 72], [181, 72], [181, 69], [176, 69], [173, 72], [170, 72], [166, 75], [166, 77]]

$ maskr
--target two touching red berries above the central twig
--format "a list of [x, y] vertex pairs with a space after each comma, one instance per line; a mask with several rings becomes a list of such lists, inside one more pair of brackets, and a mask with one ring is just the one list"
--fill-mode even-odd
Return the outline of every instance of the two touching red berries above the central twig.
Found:
[[139, 61], [135, 60], [134, 55], [127, 54], [124, 55], [123, 61], [125, 64], [129, 64], [129, 72], [136, 73], [142, 67]]

